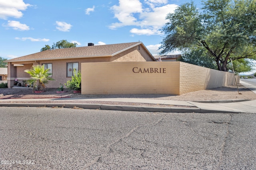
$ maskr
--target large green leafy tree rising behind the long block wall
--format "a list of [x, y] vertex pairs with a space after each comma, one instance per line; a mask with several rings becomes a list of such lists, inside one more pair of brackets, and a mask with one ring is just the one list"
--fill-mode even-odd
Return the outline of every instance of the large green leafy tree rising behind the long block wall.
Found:
[[166, 19], [160, 54], [204, 50], [221, 71], [228, 71], [230, 59], [256, 59], [256, 0], [208, 0], [202, 9], [185, 3]]

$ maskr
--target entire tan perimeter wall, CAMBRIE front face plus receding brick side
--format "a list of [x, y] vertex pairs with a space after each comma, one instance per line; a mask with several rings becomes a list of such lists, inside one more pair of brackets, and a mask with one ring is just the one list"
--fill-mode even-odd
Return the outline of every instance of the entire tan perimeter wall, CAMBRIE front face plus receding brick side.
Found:
[[82, 94], [174, 94], [228, 86], [234, 74], [182, 62], [81, 63]]

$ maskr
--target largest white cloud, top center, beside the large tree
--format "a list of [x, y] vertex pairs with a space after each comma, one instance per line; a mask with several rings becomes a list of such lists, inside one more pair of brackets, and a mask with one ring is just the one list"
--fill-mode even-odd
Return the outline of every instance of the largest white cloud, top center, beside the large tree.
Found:
[[[167, 0], [145, 0], [150, 8], [144, 8], [139, 0], [119, 0], [119, 6], [112, 6], [114, 18], [119, 22], [112, 23], [109, 28], [117, 29], [124, 26], [136, 26], [131, 33], [138, 35], [159, 35], [161, 27], [166, 23], [168, 13], [178, 7], [175, 4], [166, 4]], [[166, 5], [163, 5], [166, 4]], [[163, 5], [163, 6], [161, 6]], [[156, 7], [157, 6], [157, 7]]]

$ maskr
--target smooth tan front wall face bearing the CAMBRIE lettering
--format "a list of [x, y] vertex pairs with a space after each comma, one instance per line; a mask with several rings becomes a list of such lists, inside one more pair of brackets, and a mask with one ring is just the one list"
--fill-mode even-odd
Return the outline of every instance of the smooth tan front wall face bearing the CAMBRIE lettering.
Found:
[[82, 63], [82, 94], [178, 95], [179, 65], [179, 62]]

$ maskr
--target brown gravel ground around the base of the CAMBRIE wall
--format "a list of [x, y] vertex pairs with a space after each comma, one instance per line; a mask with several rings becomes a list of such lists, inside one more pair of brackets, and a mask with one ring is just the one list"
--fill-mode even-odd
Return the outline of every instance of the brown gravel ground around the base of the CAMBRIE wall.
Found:
[[[239, 93], [238, 94], [238, 90]], [[64, 93], [56, 93], [56, 88], [47, 88], [45, 92], [40, 94], [32, 93], [31, 88], [0, 88], [0, 99], [7, 98], [147, 98], [158, 100], [177, 100], [177, 101], [202, 101], [202, 100], [230, 100], [230, 99], [247, 99], [256, 100], [256, 94], [248, 88], [238, 85], [236, 86], [220, 87], [209, 90], [199, 90], [182, 95], [170, 94], [128, 94], [128, 95], [82, 95], [81, 93], [74, 94], [72, 91], [64, 89]], [[4, 100], [1, 103], [6, 103]], [[17, 100], [18, 103], [19, 101]], [[70, 102], [70, 101], [69, 101]], [[81, 103], [81, 101], [72, 101], [74, 103]], [[24, 102], [23, 102], [24, 103]], [[31, 102], [30, 102], [31, 103]], [[36, 103], [36, 100], [33, 101]], [[51, 101], [51, 103], [54, 103]], [[98, 102], [98, 101], [83, 101], [82, 103], [97, 103], [97, 104], [114, 104], [127, 106], [161, 106], [155, 104], [138, 104], [126, 102]]]

